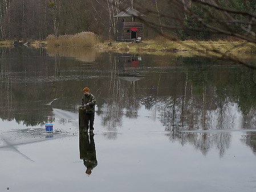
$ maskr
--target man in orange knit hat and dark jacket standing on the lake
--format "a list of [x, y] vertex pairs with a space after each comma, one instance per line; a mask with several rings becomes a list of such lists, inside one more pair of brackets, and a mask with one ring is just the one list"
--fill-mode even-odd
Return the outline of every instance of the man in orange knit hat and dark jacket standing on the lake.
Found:
[[[94, 95], [90, 93], [90, 89], [88, 87], [85, 87], [83, 89], [84, 96], [82, 98], [82, 106], [86, 109], [85, 114], [85, 124], [86, 124], [86, 130], [90, 128], [90, 132], [94, 130], [94, 113], [95, 113], [95, 102], [96, 99]], [[90, 126], [89, 126], [90, 122]]]

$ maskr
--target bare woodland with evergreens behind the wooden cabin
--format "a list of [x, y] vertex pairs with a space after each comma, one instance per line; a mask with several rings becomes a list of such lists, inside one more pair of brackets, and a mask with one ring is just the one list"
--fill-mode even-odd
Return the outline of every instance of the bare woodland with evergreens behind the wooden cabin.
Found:
[[43, 40], [82, 31], [115, 39], [113, 16], [127, 7], [145, 15], [145, 39], [255, 43], [256, 0], [1, 0], [0, 39]]

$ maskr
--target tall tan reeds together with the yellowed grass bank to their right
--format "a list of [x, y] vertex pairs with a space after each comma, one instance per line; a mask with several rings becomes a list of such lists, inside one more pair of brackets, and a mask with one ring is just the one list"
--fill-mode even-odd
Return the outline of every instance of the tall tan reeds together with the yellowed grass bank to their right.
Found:
[[[101, 38], [92, 32], [82, 32], [75, 35], [63, 35], [58, 38], [49, 35], [45, 44], [50, 46], [63, 47], [94, 47], [101, 51], [117, 52], [233, 52], [233, 53], [256, 53], [256, 45], [246, 41], [230, 39], [219, 41], [179, 41], [177, 39], [169, 40], [164, 37], [156, 37], [152, 40], [143, 41], [143, 43], [117, 42], [109, 41], [101, 43]], [[160, 54], [161, 54], [160, 53]]]

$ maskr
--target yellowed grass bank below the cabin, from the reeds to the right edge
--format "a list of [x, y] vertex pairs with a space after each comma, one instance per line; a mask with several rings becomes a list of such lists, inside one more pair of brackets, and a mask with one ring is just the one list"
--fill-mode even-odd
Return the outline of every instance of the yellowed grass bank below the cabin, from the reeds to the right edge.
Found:
[[[107, 43], [105, 43], [107, 45]], [[108, 49], [129, 52], [234, 52], [256, 53], [256, 45], [244, 41], [170, 41], [153, 39], [143, 43], [112, 43]]]

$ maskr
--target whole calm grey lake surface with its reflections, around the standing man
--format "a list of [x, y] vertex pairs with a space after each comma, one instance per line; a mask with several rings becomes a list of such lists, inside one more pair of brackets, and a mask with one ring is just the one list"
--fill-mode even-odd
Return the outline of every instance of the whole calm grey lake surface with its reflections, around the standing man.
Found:
[[[0, 50], [0, 191], [256, 190], [256, 70], [184, 53]], [[86, 86], [94, 136], [79, 135]]]

